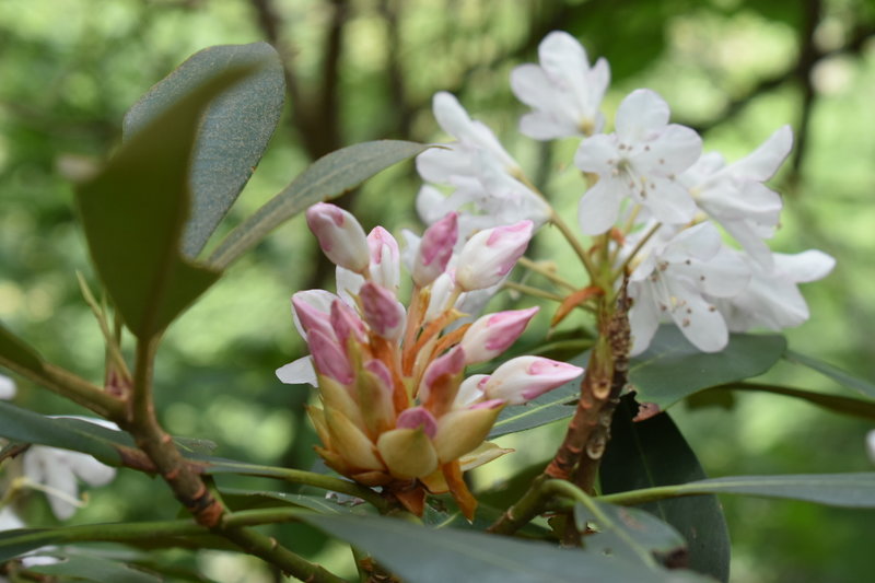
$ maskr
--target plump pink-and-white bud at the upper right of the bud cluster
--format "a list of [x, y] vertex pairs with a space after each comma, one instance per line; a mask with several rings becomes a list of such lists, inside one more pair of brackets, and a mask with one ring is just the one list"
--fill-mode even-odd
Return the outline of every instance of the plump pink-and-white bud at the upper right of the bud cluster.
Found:
[[464, 291], [471, 291], [501, 281], [525, 253], [532, 229], [532, 221], [520, 221], [475, 234], [459, 254], [456, 284]]

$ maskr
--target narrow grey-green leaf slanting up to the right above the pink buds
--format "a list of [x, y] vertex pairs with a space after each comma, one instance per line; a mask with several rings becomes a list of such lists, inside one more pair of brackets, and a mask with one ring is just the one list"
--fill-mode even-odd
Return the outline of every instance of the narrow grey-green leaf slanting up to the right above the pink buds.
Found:
[[311, 205], [339, 197], [380, 171], [428, 148], [400, 140], [378, 140], [324, 155], [234, 229], [210, 256], [210, 265], [224, 269], [270, 231]]

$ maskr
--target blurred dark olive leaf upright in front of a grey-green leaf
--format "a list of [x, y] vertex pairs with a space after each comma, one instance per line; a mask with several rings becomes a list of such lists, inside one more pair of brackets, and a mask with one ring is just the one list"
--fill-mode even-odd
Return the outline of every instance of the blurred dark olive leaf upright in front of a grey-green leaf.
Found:
[[140, 339], [163, 330], [219, 278], [180, 255], [188, 166], [201, 112], [252, 71], [223, 71], [176, 101], [77, 193], [101, 279]]

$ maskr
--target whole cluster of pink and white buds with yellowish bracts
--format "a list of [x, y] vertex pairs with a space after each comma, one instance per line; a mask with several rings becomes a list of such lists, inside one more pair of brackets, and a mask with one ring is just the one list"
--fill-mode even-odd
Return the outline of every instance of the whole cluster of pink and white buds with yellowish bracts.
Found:
[[451, 492], [470, 520], [476, 500], [463, 471], [506, 453], [485, 442], [505, 405], [518, 405], [579, 376], [570, 364], [520, 357], [491, 375], [465, 377], [523, 333], [537, 307], [500, 312], [458, 326], [459, 296], [497, 284], [532, 237], [530, 221], [472, 235], [454, 256], [457, 215], [422, 236], [412, 261], [409, 307], [398, 301], [400, 254], [380, 226], [365, 236], [345, 210], [318, 203], [307, 224], [351, 282], [342, 298], [295, 293], [295, 324], [310, 357], [277, 371], [287, 383], [318, 386], [308, 413], [325, 463], [360, 483], [381, 487], [421, 514], [427, 492]]

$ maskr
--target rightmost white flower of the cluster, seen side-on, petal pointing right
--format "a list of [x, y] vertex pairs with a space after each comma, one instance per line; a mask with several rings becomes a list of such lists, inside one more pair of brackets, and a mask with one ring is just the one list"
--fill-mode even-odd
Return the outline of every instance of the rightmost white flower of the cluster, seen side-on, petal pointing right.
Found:
[[822, 279], [836, 266], [836, 259], [816, 249], [795, 255], [775, 253], [772, 268], [742, 253], [735, 254], [747, 263], [752, 276], [750, 283], [742, 293], [714, 302], [732, 331], [798, 326], [808, 319], [808, 305], [797, 284]]

